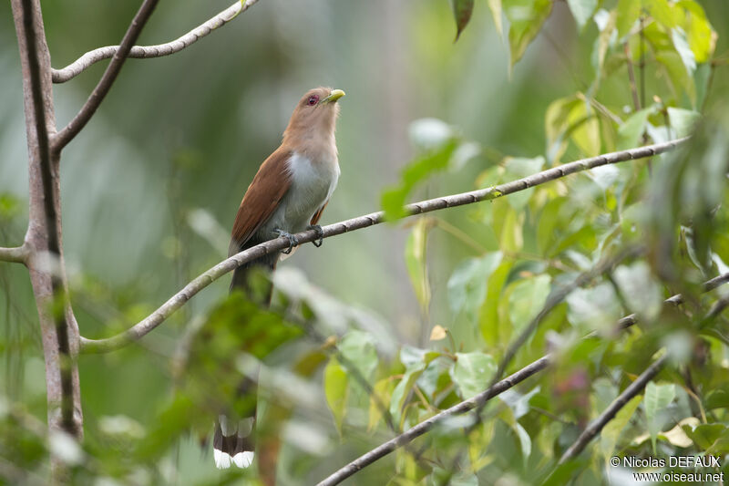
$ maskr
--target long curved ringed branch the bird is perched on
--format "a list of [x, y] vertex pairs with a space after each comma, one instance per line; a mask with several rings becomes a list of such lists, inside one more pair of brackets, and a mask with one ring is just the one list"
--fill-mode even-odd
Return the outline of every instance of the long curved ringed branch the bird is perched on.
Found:
[[[576, 160], [546, 171], [540, 171], [517, 181], [506, 182], [487, 189], [461, 192], [460, 194], [453, 194], [450, 196], [443, 196], [436, 199], [408, 204], [406, 205], [405, 210], [408, 215], [415, 215], [456, 206], [463, 206], [474, 202], [490, 201], [514, 192], [524, 191], [530, 187], [544, 184], [545, 182], [560, 179], [575, 172], [588, 171], [602, 165], [618, 163], [625, 160], [637, 160], [645, 157], [652, 157], [654, 155], [673, 150], [677, 146], [685, 143], [687, 140], [689, 140], [688, 137], [665, 143], [648, 145], [638, 149], [612, 152], [605, 155], [599, 155], [598, 157], [592, 157], [590, 159]], [[384, 221], [384, 212], [365, 214], [358, 218], [323, 226], [322, 237], [329, 238], [337, 234], [353, 232], [355, 230], [374, 226], [375, 224], [379, 224]], [[294, 236], [299, 243], [308, 243], [319, 239], [319, 235], [314, 230], [296, 233]], [[200, 290], [221, 278], [222, 275], [231, 272], [242, 264], [261, 258], [268, 253], [281, 251], [284, 248], [288, 248], [288, 246], [289, 241], [286, 238], [280, 237], [252, 246], [241, 253], [234, 254], [227, 260], [223, 260], [220, 264], [216, 264], [207, 272], [200, 274], [200, 276], [192, 280], [190, 284], [185, 285], [180, 292], [172, 295], [166, 303], [161, 305], [151, 315], [139, 321], [139, 323], [130, 327], [127, 331], [106, 339], [95, 340], [81, 337], [81, 352], [106, 353], [137, 341], [139, 338], [149, 333], [149, 331], [159, 326], [169, 317], [169, 315], [172, 315], [172, 313], [189, 301], [192, 296], [196, 295], [200, 292]]]

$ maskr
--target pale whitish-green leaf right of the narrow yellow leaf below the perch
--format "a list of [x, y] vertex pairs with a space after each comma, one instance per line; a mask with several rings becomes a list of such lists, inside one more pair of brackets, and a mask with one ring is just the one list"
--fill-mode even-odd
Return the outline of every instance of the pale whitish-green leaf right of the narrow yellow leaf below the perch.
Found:
[[501, 252], [491, 252], [458, 264], [447, 284], [448, 304], [454, 314], [476, 312], [486, 296], [488, 277], [500, 262]]

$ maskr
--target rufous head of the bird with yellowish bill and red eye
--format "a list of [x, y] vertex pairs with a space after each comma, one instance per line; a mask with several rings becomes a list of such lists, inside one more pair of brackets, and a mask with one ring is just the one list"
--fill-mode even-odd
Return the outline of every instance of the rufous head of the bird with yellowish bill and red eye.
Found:
[[302, 140], [334, 136], [336, 117], [339, 114], [337, 100], [344, 96], [341, 89], [313, 88], [296, 104], [283, 139]]

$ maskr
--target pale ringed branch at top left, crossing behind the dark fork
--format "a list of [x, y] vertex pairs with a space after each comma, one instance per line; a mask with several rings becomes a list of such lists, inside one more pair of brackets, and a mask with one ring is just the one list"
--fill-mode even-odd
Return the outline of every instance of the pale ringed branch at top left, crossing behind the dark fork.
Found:
[[[165, 44], [158, 44], [157, 46], [134, 46], [129, 50], [128, 56], [137, 59], [146, 59], [148, 57], [162, 57], [169, 56], [180, 52], [185, 47], [190, 47], [195, 44], [204, 36], [208, 36], [213, 30], [224, 26], [236, 16], [248, 10], [248, 8], [256, 4], [258, 0], [245, 0], [235, 2], [223, 10], [217, 16], [210, 18], [204, 24], [195, 27], [190, 30], [184, 36], [180, 36], [177, 39], [170, 41]], [[83, 56], [79, 57], [73, 63], [62, 69], [52, 69], [51, 74], [53, 76], [54, 83], [65, 83], [66, 81], [76, 78], [79, 74], [87, 70], [88, 67], [98, 63], [98, 61], [108, 59], [117, 54], [119, 46], [107, 46], [98, 47], [92, 51], [88, 51]]]

